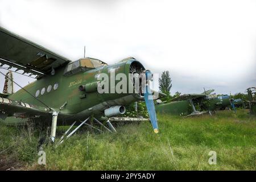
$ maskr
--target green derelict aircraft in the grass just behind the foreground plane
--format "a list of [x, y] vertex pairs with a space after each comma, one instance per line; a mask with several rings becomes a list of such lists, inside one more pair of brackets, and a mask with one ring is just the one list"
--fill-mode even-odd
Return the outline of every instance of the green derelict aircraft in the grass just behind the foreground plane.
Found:
[[[216, 94], [211, 94], [213, 91], [212, 89], [201, 94], [183, 94], [173, 98], [167, 104], [156, 105], [156, 112], [192, 116], [210, 113], [230, 105], [228, 95], [216, 96]], [[195, 105], [199, 106], [198, 110]]]

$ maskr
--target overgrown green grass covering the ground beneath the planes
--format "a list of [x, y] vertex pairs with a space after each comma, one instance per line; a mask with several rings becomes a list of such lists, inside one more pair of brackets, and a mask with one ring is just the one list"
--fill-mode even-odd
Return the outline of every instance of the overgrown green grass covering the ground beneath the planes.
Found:
[[[11, 147], [3, 153], [26, 162], [27, 169], [255, 170], [256, 117], [246, 112], [226, 110], [193, 118], [158, 115], [159, 134], [150, 123], [124, 125], [115, 134], [83, 130], [58, 147], [44, 146], [46, 166], [37, 164], [40, 131], [1, 125], [0, 151]], [[217, 153], [216, 165], [208, 163], [210, 151]]]

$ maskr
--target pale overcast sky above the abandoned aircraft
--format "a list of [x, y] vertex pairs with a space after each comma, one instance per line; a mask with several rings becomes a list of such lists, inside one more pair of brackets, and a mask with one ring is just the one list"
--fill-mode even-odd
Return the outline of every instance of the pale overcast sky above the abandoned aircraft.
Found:
[[0, 26], [71, 60], [133, 56], [170, 71], [172, 94], [256, 86], [256, 1], [0, 0]]

